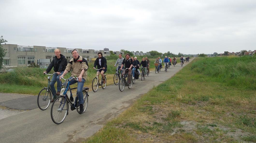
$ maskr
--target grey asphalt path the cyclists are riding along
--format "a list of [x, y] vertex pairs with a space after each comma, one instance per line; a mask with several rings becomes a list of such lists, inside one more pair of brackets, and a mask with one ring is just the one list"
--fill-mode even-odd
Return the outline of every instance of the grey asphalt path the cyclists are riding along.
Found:
[[[193, 59], [190, 59], [190, 62]], [[188, 63], [185, 62], [184, 66], [187, 64]], [[120, 92], [118, 85], [108, 85], [105, 89], [99, 88], [95, 93], [89, 92], [87, 110], [81, 115], [78, 114], [76, 110], [69, 110], [69, 115], [59, 125], [53, 123], [51, 120], [51, 105], [44, 111], [36, 108], [1, 119], [0, 142], [83, 141], [100, 130], [108, 120], [116, 117], [127, 109], [137, 98], [147, 93], [153, 86], [157, 86], [171, 78], [180, 69], [182, 69], [182, 67], [180, 64], [177, 64], [175, 67], [171, 66], [171, 68], [167, 70], [167, 73], [164, 72], [163, 69], [157, 74], [151, 71], [150, 75], [146, 77], [145, 80], [141, 81], [139, 78], [139, 80], [136, 80], [135, 84], [132, 85], [131, 89], [125, 87], [123, 92]], [[33, 97], [23, 98], [28, 100]], [[9, 102], [9, 104], [11, 103], [15, 102]], [[33, 99], [30, 103], [36, 104], [36, 100]], [[29, 104], [29, 102], [25, 104]], [[3, 105], [2, 103], [2, 106]], [[7, 104], [5, 105], [7, 106]]]

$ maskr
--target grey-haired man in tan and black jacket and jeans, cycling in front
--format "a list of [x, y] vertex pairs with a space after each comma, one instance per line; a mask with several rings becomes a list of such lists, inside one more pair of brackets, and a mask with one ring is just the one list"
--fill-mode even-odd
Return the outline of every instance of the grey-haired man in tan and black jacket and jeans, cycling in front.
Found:
[[[71, 51], [71, 54], [74, 58], [72, 58], [64, 73], [60, 76], [61, 77], [65, 76], [68, 72], [71, 71], [71, 77], [69, 79], [71, 79], [74, 76], [78, 76], [78, 81], [77, 80], [71, 80], [69, 82], [69, 85], [72, 85], [74, 83], [77, 83], [77, 95], [78, 95], [78, 99], [79, 99], [79, 104], [80, 104], [80, 111], [79, 113], [83, 113], [83, 93], [82, 93], [82, 88], [83, 88], [83, 84], [86, 81], [87, 78], [87, 70], [88, 70], [88, 63], [87, 60], [82, 58], [81, 56], [79, 56], [78, 50], [77, 49], [73, 49]], [[70, 100], [71, 102], [74, 101], [73, 96], [70, 96]]]

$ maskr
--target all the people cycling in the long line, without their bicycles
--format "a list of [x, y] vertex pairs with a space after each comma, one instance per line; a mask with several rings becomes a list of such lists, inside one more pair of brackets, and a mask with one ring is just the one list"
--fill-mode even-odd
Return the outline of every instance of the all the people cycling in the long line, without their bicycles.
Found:
[[[44, 73], [49, 73], [50, 70], [52, 69], [52, 67], [54, 68], [54, 72], [56, 72], [57, 74], [52, 76], [52, 81], [50, 82], [50, 89], [52, 90], [52, 94], [53, 94], [53, 98], [50, 102], [54, 102], [54, 100], [57, 98], [57, 96], [60, 95], [61, 92], [61, 82], [60, 79], [62, 77], [64, 77], [68, 72], [71, 71], [71, 78], [73, 77], [77, 77], [77, 80], [71, 80], [69, 82], [70, 85], [74, 84], [74, 83], [78, 83], [77, 85], [77, 95], [78, 95], [78, 99], [79, 99], [79, 104], [80, 104], [80, 111], [79, 112], [83, 112], [83, 94], [82, 94], [82, 88], [84, 85], [84, 82], [87, 79], [87, 70], [88, 70], [88, 62], [86, 59], [84, 59], [82, 56], [79, 56], [79, 52], [77, 49], [73, 49], [71, 51], [71, 54], [73, 56], [72, 59], [70, 59], [69, 62], [67, 62], [67, 59], [65, 58], [64, 55], [61, 54], [59, 49], [55, 49], [54, 50], [55, 53], [55, 57], [54, 59], [51, 61], [50, 65], [48, 66], [48, 68], [46, 69], [46, 71]], [[116, 60], [116, 63], [114, 66], [117, 66], [116, 71], [120, 70], [121, 75], [123, 76], [124, 74], [128, 73], [128, 84], [131, 83], [131, 78], [134, 79], [134, 71], [140, 73], [139, 68], [143, 67], [146, 68], [147, 70], [144, 70], [144, 75], [146, 76], [148, 72], [149, 73], [149, 68], [150, 68], [150, 60], [145, 57], [142, 58], [142, 61], [139, 62], [137, 57], [130, 57], [130, 54], [127, 53], [125, 55], [125, 58], [122, 57], [122, 54], [118, 55], [119, 58]], [[189, 60], [189, 57], [186, 58], [186, 60]], [[159, 68], [162, 68], [162, 62], [164, 63], [169, 63], [169, 65], [171, 65], [171, 62], [176, 62], [177, 58], [174, 57], [174, 59], [172, 60], [170, 57], [167, 58], [167, 56], [165, 56], [164, 60], [162, 61], [162, 59], [160, 57], [156, 58], [155, 63], [158, 63], [158, 70]], [[180, 60], [182, 60], [182, 62], [184, 61], [184, 58], [181, 57]], [[102, 79], [103, 79], [103, 83], [105, 83], [105, 78], [104, 78], [104, 73], [106, 73], [107, 71], [107, 61], [106, 58], [103, 57], [102, 53], [99, 52], [98, 53], [98, 58], [95, 60], [94, 62], [94, 69], [96, 68], [100, 69], [97, 72], [97, 75], [101, 75]], [[124, 71], [124, 72], [123, 72]], [[131, 75], [133, 75], [131, 77]], [[145, 78], [145, 77], [144, 77]], [[57, 81], [57, 92], [55, 90], [54, 84]], [[70, 95], [70, 101], [73, 102], [73, 96], [72, 93]]]

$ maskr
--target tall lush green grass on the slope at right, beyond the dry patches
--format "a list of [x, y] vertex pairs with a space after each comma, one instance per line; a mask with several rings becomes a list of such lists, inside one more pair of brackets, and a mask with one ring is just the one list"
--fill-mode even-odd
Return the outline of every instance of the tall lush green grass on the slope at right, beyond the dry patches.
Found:
[[256, 56], [201, 58], [192, 64], [191, 72], [201, 73], [195, 80], [256, 90]]

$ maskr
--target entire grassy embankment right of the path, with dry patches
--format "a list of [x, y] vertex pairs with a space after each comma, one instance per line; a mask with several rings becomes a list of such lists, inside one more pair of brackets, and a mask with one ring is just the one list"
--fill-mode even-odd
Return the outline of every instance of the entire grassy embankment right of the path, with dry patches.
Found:
[[197, 58], [86, 142], [256, 142], [256, 57]]

